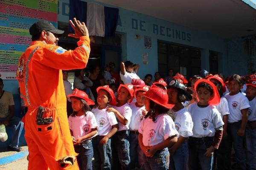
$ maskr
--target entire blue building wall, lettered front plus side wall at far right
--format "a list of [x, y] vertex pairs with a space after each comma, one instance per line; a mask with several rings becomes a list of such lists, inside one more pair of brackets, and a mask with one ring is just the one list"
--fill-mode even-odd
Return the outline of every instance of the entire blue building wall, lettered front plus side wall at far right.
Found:
[[[96, 2], [86, 0], [87, 2]], [[99, 2], [96, 2], [99, 3]], [[100, 3], [104, 6], [108, 4]], [[114, 7], [114, 6], [110, 6]], [[69, 20], [69, 0], [58, 0], [58, 21], [68, 22]], [[140, 64], [139, 76], [143, 78], [145, 74], [154, 74], [158, 70], [157, 64], [157, 40], [164, 40], [180, 45], [188, 45], [201, 49], [201, 67], [209, 70], [209, 50], [219, 52], [218, 70], [219, 72], [230, 74], [249, 74], [248, 65], [256, 63], [256, 57], [249, 60], [247, 64], [246, 51], [243, 47], [242, 38], [226, 40], [193, 30], [184, 26], [177, 25], [155, 17], [140, 14], [119, 8], [119, 22], [116, 28], [122, 37], [122, 60], [131, 60]], [[173, 32], [175, 34], [173, 34]], [[176, 35], [177, 31], [177, 35]], [[180, 36], [178, 36], [178, 33]], [[136, 39], [135, 34], [140, 38]], [[144, 36], [151, 37], [152, 48], [144, 47]], [[148, 64], [143, 64], [143, 54], [148, 54]], [[254, 64], [254, 68], [255, 68]], [[256, 69], [254, 69], [256, 70]], [[4, 80], [5, 90], [11, 91], [14, 95], [18, 94], [18, 83], [16, 80]], [[17, 95], [18, 96], [18, 95]], [[20, 103], [15, 95], [15, 103]], [[15, 108], [19, 108], [15, 106]], [[19, 112], [18, 110], [16, 111]]]

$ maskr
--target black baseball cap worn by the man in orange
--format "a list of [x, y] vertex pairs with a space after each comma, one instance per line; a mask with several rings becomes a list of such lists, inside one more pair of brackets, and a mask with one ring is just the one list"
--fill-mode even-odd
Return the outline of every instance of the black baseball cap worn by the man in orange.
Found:
[[53, 34], [63, 34], [64, 31], [56, 29], [52, 23], [47, 20], [38, 20], [29, 28], [30, 35], [40, 34], [42, 31], [51, 31]]

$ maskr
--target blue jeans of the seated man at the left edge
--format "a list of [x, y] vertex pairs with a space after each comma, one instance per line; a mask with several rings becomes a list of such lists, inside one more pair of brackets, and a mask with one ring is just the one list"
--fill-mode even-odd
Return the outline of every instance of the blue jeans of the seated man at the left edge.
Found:
[[[6, 118], [0, 118], [0, 122], [5, 121]], [[19, 117], [13, 116], [9, 121], [9, 126], [13, 126], [13, 136], [9, 146], [18, 147], [19, 146], [19, 138], [23, 128], [23, 122]]]

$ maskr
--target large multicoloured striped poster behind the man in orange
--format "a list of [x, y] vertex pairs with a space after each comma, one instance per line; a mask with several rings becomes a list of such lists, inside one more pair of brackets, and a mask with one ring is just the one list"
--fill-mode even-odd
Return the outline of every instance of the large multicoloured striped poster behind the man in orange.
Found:
[[0, 1], [0, 78], [16, 79], [17, 63], [31, 43], [29, 27], [48, 20], [57, 28], [58, 0]]

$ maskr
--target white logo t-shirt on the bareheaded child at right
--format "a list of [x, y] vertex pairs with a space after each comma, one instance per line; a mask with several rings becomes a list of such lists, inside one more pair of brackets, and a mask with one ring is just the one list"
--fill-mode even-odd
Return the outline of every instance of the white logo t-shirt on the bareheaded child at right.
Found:
[[249, 100], [241, 93], [233, 96], [230, 96], [230, 94], [226, 94], [224, 97], [227, 99], [228, 108], [230, 111], [230, 114], [227, 117], [227, 122], [239, 122], [242, 119], [241, 110], [250, 108]]

